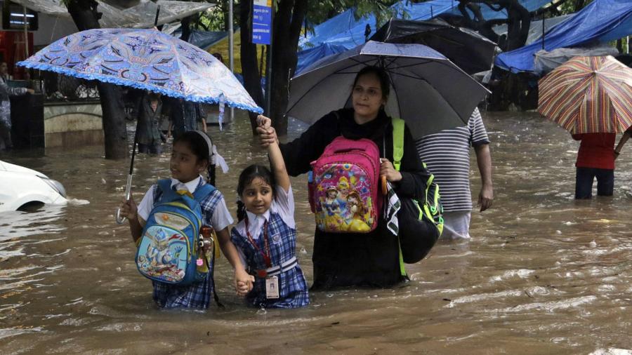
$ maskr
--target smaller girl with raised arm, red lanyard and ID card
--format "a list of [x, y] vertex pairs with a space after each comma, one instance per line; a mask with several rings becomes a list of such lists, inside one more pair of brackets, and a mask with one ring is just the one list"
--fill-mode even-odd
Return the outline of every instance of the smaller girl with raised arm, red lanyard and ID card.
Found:
[[[258, 116], [259, 126], [270, 119]], [[254, 287], [249, 304], [265, 308], [296, 308], [310, 303], [307, 284], [296, 260], [294, 197], [279, 145], [268, 146], [270, 167], [251, 165], [239, 175], [239, 223], [232, 242], [242, 252]]]

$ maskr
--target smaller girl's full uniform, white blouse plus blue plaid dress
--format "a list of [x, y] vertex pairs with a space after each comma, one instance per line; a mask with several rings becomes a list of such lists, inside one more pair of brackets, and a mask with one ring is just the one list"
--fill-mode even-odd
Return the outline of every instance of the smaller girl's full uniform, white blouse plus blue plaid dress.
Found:
[[[246, 211], [248, 233], [257, 248], [248, 239], [246, 220], [240, 221], [232, 229], [231, 239], [251, 273], [268, 269], [263, 255], [266, 253], [264, 227], [267, 227], [271, 266], [279, 266], [296, 257], [296, 223], [294, 222], [294, 197], [291, 187], [286, 192], [277, 186], [277, 194], [270, 208], [261, 215]], [[260, 251], [261, 250], [261, 251]], [[276, 275], [279, 298], [268, 299], [265, 293], [265, 278], [256, 277], [253, 290], [246, 295], [249, 304], [265, 308], [296, 308], [310, 303], [305, 276], [298, 263], [295, 267]]]

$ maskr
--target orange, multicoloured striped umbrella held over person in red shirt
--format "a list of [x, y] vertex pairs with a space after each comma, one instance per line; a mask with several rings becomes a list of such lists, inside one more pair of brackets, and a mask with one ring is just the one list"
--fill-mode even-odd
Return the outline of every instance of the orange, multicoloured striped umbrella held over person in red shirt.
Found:
[[621, 133], [632, 126], [632, 69], [612, 55], [572, 58], [538, 86], [538, 112], [570, 133]]

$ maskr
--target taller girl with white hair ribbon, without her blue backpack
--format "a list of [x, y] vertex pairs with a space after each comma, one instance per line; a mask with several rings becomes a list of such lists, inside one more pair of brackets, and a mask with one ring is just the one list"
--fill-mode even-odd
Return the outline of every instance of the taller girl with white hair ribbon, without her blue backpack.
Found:
[[[173, 140], [173, 151], [169, 168], [171, 170], [171, 188], [176, 190], [186, 189], [191, 194], [195, 190], [206, 184], [202, 178], [202, 172], [207, 169], [213, 147], [211, 140], [199, 130], [192, 130]], [[143, 201], [138, 207], [133, 198], [124, 201], [121, 206], [121, 216], [127, 217], [129, 227], [134, 242], [140, 241], [143, 226], [150, 211], [161, 201], [162, 191], [157, 184], [152, 185]], [[228, 225], [232, 224], [232, 217], [226, 208], [224, 197], [218, 189], [214, 189], [200, 203], [202, 208], [202, 225], [209, 225], [215, 229], [220, 242], [220, 248], [232, 267], [235, 269], [235, 290], [238, 295], [246, 295], [252, 287], [251, 276], [246, 273], [237, 249], [230, 241]], [[213, 294], [212, 269], [215, 265], [209, 265], [209, 274], [203, 281], [193, 283], [189, 286], [177, 286], [167, 283], [152, 281], [154, 292], [153, 298], [158, 307], [175, 308], [187, 307], [196, 309], [206, 309], [211, 303]]]

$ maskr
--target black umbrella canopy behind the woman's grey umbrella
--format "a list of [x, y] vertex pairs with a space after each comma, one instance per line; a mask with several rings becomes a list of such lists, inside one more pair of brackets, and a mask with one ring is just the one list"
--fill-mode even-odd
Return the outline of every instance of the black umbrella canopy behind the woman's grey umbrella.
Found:
[[424, 44], [445, 55], [468, 74], [489, 70], [496, 53], [496, 43], [438, 18], [427, 21], [391, 18], [371, 37], [371, 41]]

